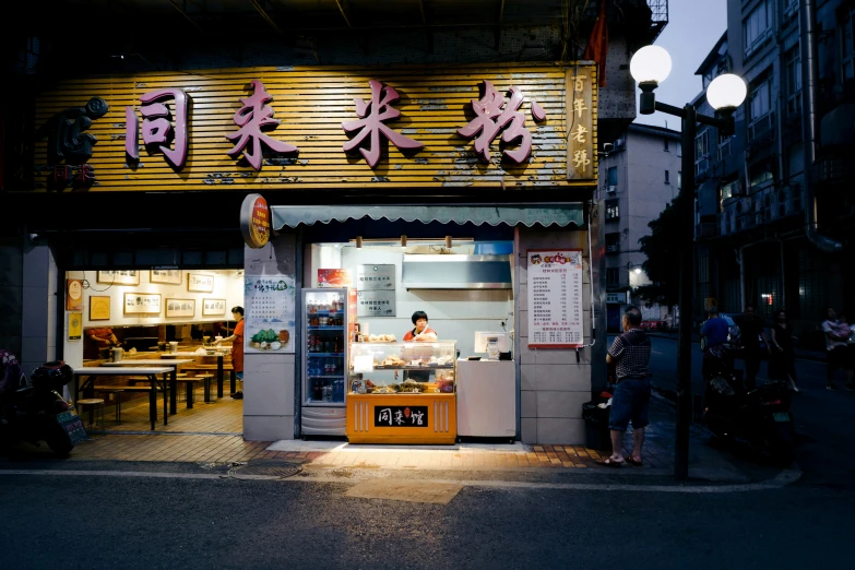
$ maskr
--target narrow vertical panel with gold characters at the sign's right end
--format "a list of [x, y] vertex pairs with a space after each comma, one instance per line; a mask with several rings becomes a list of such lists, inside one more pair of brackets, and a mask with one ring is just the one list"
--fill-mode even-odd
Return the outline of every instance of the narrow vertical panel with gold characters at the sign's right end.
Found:
[[596, 179], [596, 133], [594, 128], [593, 67], [567, 72], [567, 178]]

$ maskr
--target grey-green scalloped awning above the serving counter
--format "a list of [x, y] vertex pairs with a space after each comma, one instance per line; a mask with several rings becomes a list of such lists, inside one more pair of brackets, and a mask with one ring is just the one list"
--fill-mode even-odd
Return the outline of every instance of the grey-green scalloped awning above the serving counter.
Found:
[[498, 226], [522, 224], [531, 227], [584, 225], [584, 204], [536, 205], [273, 205], [271, 206], [273, 228], [297, 227], [300, 224], [329, 224], [330, 222], [358, 221], [364, 218], [396, 222], [439, 222], [441, 224], [466, 224]]

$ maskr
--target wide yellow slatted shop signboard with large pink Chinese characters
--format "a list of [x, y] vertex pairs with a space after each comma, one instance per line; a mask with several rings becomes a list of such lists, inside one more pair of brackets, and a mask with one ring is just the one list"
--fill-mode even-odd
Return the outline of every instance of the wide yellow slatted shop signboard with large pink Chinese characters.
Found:
[[[382, 75], [369, 81], [368, 72]], [[68, 108], [68, 93], [99, 91], [115, 100]], [[590, 186], [596, 100], [596, 69], [584, 64], [83, 78], [36, 100], [36, 116], [64, 116], [36, 126], [54, 141], [37, 141], [48, 161], [36, 165], [34, 186], [70, 183], [75, 168], [83, 182], [97, 168], [91, 186], [99, 191]]]

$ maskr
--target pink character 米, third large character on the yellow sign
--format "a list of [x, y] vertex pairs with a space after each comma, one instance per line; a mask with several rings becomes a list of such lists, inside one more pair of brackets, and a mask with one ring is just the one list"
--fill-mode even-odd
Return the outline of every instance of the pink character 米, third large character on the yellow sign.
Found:
[[345, 132], [360, 130], [356, 136], [344, 144], [344, 151], [353, 151], [370, 135], [368, 150], [360, 147], [359, 152], [365, 157], [368, 166], [373, 168], [380, 161], [381, 133], [401, 150], [423, 149], [425, 146], [423, 143], [404, 136], [383, 124], [385, 121], [391, 121], [401, 116], [400, 110], [392, 108], [392, 104], [400, 98], [397, 92], [390, 86], [383, 86], [382, 83], [376, 80], [369, 81], [368, 84], [371, 86], [371, 100], [366, 103], [360, 98], [354, 99], [356, 115], [359, 116], [359, 120], [342, 123], [342, 129]]

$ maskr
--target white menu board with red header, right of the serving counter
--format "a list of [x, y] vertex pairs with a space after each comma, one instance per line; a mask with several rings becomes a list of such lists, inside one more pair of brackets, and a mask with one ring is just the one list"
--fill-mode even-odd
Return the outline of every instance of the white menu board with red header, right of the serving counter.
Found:
[[529, 347], [582, 346], [582, 250], [530, 249]]

